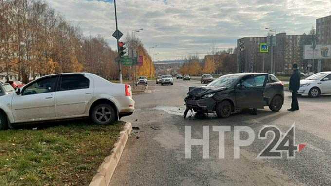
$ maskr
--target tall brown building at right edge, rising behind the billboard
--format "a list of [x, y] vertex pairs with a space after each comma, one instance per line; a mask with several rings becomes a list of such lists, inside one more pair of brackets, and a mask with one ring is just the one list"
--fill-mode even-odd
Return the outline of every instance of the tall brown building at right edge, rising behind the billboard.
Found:
[[331, 15], [316, 19], [316, 37], [318, 44], [331, 44]]

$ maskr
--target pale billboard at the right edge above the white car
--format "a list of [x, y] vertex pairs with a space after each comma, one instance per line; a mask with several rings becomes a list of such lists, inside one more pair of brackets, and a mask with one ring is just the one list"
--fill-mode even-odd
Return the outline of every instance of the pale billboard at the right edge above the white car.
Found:
[[331, 45], [316, 45], [315, 51], [312, 45], [305, 45], [303, 58], [331, 59]]

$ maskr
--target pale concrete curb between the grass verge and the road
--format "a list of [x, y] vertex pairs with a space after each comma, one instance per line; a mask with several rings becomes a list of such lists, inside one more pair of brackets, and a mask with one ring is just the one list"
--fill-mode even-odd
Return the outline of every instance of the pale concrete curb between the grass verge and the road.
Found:
[[120, 132], [120, 136], [117, 142], [114, 144], [112, 153], [110, 156], [107, 156], [102, 164], [99, 166], [96, 175], [93, 177], [89, 186], [108, 186], [111, 180], [112, 175], [115, 172], [115, 169], [120, 161], [122, 152], [125, 145], [127, 144], [129, 135], [132, 131], [131, 123], [127, 122], [123, 130]]

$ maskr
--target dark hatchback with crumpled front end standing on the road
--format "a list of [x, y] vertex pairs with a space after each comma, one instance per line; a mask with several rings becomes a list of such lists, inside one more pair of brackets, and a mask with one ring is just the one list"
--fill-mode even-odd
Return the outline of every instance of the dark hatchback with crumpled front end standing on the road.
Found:
[[185, 98], [186, 110], [216, 112], [219, 118], [247, 108], [279, 111], [284, 103], [284, 84], [273, 74], [238, 73], [219, 77], [207, 86], [190, 87]]

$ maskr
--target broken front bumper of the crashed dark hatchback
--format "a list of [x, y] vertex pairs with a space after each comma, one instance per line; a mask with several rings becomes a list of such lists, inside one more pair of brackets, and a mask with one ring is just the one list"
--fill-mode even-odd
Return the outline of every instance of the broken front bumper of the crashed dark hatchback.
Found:
[[216, 102], [213, 98], [199, 100], [185, 99], [186, 107], [197, 109], [204, 112], [213, 112]]

